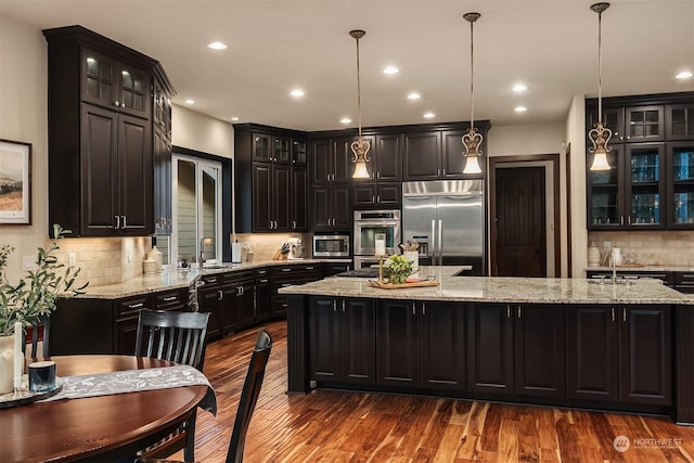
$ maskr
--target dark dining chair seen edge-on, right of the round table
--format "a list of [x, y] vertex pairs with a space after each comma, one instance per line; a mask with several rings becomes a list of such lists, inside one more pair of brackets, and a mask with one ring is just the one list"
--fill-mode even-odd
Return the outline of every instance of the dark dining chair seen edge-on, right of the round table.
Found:
[[[236, 410], [234, 428], [231, 433], [229, 450], [227, 451], [227, 463], [243, 462], [243, 450], [246, 443], [246, 434], [248, 432], [248, 425], [250, 424], [250, 417], [253, 416], [256, 403], [258, 402], [258, 396], [260, 396], [260, 388], [262, 387], [265, 370], [268, 365], [268, 359], [270, 358], [271, 349], [272, 338], [267, 331], [260, 329], [260, 331], [258, 332], [258, 338], [256, 340], [256, 347], [253, 349], [253, 355], [250, 356], [250, 363], [248, 364], [246, 380], [243, 383], [241, 398], [239, 399], [239, 409]], [[137, 462], [175, 463], [172, 460], [155, 460], [144, 458], [137, 460]]]

